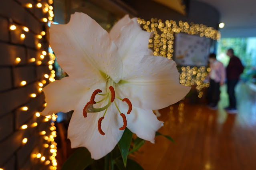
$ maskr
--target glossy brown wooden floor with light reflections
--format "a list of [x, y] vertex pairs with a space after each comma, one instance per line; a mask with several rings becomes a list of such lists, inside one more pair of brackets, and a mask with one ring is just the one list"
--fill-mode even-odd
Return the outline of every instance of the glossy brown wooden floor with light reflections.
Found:
[[[225, 87], [224, 87], [225, 88]], [[238, 85], [238, 114], [228, 114], [226, 95], [219, 109], [179, 104], [160, 110], [163, 136], [134, 155], [145, 170], [256, 170], [256, 93]]]

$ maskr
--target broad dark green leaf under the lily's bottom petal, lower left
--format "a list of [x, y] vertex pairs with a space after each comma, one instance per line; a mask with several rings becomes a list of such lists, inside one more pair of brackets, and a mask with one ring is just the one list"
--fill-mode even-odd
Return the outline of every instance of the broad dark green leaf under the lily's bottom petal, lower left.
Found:
[[84, 170], [93, 163], [91, 153], [85, 147], [78, 148], [63, 164], [61, 170]]

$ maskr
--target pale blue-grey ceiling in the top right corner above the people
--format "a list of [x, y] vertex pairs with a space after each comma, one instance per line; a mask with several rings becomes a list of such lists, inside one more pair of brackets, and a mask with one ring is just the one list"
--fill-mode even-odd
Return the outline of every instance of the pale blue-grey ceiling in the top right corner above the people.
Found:
[[[197, 0], [214, 6], [220, 12], [222, 37], [256, 36], [255, 0]], [[191, 1], [193, 3], [193, 0]]]

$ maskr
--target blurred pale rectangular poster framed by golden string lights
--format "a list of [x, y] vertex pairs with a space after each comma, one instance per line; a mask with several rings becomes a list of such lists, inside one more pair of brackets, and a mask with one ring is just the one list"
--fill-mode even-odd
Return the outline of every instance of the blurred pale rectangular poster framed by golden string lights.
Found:
[[210, 38], [184, 33], [175, 36], [175, 62], [182, 66], [203, 66], [208, 63]]

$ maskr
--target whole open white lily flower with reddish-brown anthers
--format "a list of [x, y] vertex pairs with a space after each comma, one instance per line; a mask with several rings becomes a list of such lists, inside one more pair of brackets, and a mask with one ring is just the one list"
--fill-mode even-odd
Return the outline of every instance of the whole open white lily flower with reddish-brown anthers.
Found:
[[[128, 15], [107, 33], [83, 13], [73, 14], [66, 25], [52, 25], [49, 31], [58, 64], [69, 77], [44, 87], [47, 106], [41, 114], [74, 110], [68, 129], [71, 147], [86, 147], [92, 158], [102, 158], [116, 146], [126, 123], [137, 136], [154, 143], [163, 122], [152, 110], [176, 103], [190, 88], [179, 84], [174, 61], [153, 56], [148, 49], [152, 33], [141, 30], [137, 18]], [[96, 95], [96, 89], [105, 95]], [[91, 105], [94, 96], [97, 103]], [[121, 101], [124, 98], [129, 100]]]

